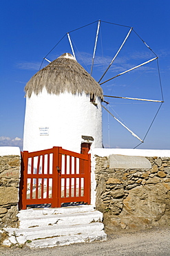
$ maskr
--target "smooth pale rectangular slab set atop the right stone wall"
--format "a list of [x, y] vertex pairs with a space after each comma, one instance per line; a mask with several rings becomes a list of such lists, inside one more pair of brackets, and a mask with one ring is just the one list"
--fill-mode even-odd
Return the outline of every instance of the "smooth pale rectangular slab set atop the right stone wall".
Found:
[[123, 169], [150, 169], [151, 163], [147, 158], [142, 156], [110, 155], [109, 167]]

